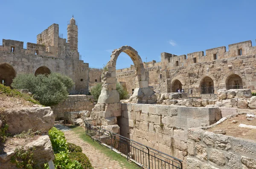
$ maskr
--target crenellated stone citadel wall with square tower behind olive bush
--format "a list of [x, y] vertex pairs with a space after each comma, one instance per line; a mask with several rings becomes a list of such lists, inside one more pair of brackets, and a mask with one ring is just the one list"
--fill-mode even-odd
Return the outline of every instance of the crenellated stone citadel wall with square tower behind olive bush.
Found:
[[0, 82], [10, 86], [17, 74], [58, 72], [75, 82], [71, 94], [88, 94], [89, 64], [79, 60], [79, 52], [70, 49], [77, 43], [70, 45], [66, 41], [59, 37], [58, 24], [49, 26], [37, 35], [37, 43], [27, 43], [26, 47], [21, 41], [3, 39], [0, 46]]

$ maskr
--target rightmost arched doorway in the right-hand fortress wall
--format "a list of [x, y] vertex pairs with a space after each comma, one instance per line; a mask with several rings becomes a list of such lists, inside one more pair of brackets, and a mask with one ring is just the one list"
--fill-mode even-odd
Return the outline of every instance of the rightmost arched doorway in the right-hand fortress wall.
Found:
[[237, 74], [231, 74], [226, 79], [226, 89], [243, 89], [242, 78]]

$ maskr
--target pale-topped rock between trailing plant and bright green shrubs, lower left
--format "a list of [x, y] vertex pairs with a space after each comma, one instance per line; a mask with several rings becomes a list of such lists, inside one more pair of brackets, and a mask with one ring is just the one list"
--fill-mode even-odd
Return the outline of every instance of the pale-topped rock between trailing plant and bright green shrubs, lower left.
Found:
[[54, 152], [52, 150], [52, 143], [48, 135], [42, 135], [37, 140], [27, 144], [28, 149], [35, 148], [33, 158], [38, 161], [37, 166], [44, 166], [49, 160], [54, 160]]

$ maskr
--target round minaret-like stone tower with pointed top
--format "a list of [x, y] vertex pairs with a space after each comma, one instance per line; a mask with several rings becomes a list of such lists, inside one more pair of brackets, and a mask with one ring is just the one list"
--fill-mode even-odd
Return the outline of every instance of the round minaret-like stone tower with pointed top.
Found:
[[70, 44], [70, 50], [78, 52], [78, 26], [74, 16], [67, 25], [67, 43]]

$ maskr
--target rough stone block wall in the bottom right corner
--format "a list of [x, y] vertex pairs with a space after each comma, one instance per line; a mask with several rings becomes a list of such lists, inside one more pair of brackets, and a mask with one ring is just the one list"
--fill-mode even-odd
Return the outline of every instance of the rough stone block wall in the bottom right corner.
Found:
[[256, 141], [189, 129], [188, 169], [255, 169]]

